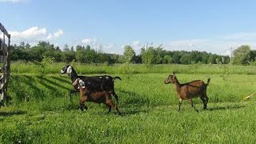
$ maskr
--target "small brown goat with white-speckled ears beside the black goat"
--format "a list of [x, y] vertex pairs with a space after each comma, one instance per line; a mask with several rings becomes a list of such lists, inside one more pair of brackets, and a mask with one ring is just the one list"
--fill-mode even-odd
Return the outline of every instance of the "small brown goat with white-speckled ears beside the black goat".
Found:
[[112, 101], [112, 91], [110, 90], [103, 90], [103, 91], [89, 91], [86, 86], [85, 82], [83, 82], [81, 79], [77, 78], [73, 82], [74, 86], [77, 86], [80, 93], [80, 109], [83, 110], [84, 108], [87, 110], [88, 107], [84, 104], [84, 102], [96, 102], [96, 103], [104, 103], [106, 106], [109, 107], [109, 112], [111, 111], [111, 108], [113, 108], [116, 112], [116, 114], [120, 114], [120, 111], [118, 110], [118, 106], [114, 105], [114, 102]]

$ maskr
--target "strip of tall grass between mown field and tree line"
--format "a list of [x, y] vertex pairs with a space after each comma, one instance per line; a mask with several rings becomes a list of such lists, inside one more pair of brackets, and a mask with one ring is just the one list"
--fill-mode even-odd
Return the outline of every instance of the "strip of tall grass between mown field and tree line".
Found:
[[[122, 64], [107, 66], [106, 64], [81, 64], [72, 63], [78, 74], [122, 74]], [[52, 63], [47, 66], [46, 74], [59, 74], [65, 63]], [[154, 65], [146, 66], [142, 64], [130, 64], [133, 74], [166, 74], [176, 71], [179, 74], [256, 74], [256, 66], [237, 65]], [[38, 66], [32, 62], [12, 62], [11, 72], [17, 74], [38, 74]]]

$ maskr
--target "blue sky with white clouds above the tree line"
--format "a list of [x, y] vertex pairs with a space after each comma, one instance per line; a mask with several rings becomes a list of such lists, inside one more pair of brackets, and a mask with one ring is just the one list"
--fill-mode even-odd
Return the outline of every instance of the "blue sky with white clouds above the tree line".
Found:
[[0, 22], [11, 44], [90, 45], [111, 54], [123, 54], [126, 45], [136, 54], [162, 45], [230, 55], [242, 45], [256, 50], [255, 6], [254, 0], [0, 0]]

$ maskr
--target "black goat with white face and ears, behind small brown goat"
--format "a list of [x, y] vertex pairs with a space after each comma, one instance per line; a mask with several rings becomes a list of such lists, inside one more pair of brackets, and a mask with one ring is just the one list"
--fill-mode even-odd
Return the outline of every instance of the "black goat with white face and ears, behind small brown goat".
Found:
[[[121, 80], [120, 77], [111, 77], [110, 75], [101, 75], [101, 76], [94, 76], [94, 77], [81, 76], [81, 75], [78, 75], [77, 72], [74, 70], [74, 68], [70, 65], [64, 66], [61, 70], [61, 73], [68, 74], [72, 82], [74, 82], [75, 79], [77, 78], [82, 79], [82, 81], [86, 83], [87, 89], [90, 92], [104, 91], [104, 90], [112, 91], [114, 98], [118, 102], [118, 95], [114, 91], [114, 80], [116, 78]], [[78, 90], [78, 87], [74, 86], [74, 89], [70, 90], [70, 100], [71, 100], [71, 94], [76, 92], [79, 92], [79, 90]]]

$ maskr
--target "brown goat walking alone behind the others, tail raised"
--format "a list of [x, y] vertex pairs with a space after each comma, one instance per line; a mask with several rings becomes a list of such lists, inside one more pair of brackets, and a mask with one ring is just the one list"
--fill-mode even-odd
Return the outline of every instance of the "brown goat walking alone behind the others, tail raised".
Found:
[[175, 90], [179, 97], [178, 110], [181, 110], [182, 100], [190, 99], [190, 104], [198, 112], [198, 110], [194, 107], [192, 98], [201, 98], [203, 102], [203, 109], [207, 109], [207, 103], [209, 98], [207, 97], [206, 90], [209, 85], [210, 78], [208, 78], [207, 83], [202, 82], [201, 80], [187, 82], [180, 84], [178, 79], [175, 76], [175, 73], [170, 74], [168, 78], [166, 78], [166, 84], [173, 83]]

